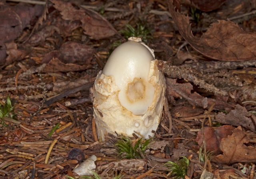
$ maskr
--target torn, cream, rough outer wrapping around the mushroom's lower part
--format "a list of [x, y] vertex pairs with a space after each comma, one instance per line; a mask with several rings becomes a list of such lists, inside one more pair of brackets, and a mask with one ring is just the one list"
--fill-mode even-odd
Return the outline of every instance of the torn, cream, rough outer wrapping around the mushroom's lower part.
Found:
[[164, 75], [157, 68], [157, 60], [150, 62], [148, 82], [154, 87], [152, 104], [146, 113], [134, 115], [124, 108], [119, 99], [120, 89], [115, 84], [113, 76], [98, 73], [92, 93], [94, 97], [94, 118], [97, 134], [104, 141], [107, 133], [116, 133], [132, 137], [132, 133], [140, 133], [146, 139], [154, 136], [162, 115], [164, 93], [166, 89]]

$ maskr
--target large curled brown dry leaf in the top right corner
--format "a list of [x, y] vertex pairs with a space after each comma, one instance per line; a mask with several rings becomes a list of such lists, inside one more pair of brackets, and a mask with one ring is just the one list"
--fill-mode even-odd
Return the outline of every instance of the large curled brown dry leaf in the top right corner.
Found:
[[201, 38], [195, 37], [190, 29], [188, 16], [176, 12], [178, 0], [168, 0], [172, 18], [182, 37], [203, 55], [223, 61], [251, 60], [256, 58], [256, 33], [246, 32], [237, 24], [219, 20], [212, 24]]

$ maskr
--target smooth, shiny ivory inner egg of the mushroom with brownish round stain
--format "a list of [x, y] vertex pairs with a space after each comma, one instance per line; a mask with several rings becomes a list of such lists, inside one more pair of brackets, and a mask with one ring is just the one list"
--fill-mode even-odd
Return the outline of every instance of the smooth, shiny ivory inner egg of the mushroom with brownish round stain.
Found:
[[144, 115], [154, 98], [155, 89], [148, 82], [152, 60], [144, 45], [129, 41], [112, 52], [102, 70], [104, 75], [114, 77], [121, 105], [135, 115]]

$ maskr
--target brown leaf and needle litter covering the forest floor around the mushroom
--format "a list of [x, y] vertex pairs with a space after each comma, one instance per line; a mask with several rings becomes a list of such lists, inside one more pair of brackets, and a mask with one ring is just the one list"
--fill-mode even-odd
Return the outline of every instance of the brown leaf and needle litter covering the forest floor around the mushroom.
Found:
[[[192, 0], [182, 6], [178, 0], [76, 3], [0, 4], [0, 103], [4, 106], [10, 96], [14, 109], [0, 119], [1, 177], [74, 178], [72, 169], [93, 155], [102, 178], [168, 178], [164, 163], [182, 156], [190, 160], [188, 178], [206, 169], [213, 169], [216, 178], [247, 177], [239, 169], [253, 169], [256, 162], [253, 11], [246, 20], [238, 14], [251, 9], [229, 0], [214, 5]], [[124, 40], [126, 24], [149, 30], [153, 38], [147, 42], [167, 84], [154, 142], [145, 154], [136, 151], [142, 159], [117, 157], [118, 138], [98, 139], [92, 116], [90, 87], [112, 44]], [[131, 144], [140, 137], [134, 133]], [[206, 169], [200, 147], [214, 152]], [[75, 150], [72, 155], [79, 156], [70, 157]]]

